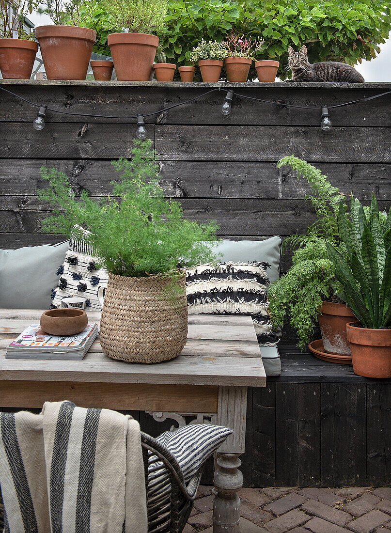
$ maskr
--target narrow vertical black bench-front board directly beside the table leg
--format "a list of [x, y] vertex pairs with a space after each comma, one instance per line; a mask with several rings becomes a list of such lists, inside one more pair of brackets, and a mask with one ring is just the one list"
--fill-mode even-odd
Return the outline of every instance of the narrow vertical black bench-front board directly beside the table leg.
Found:
[[[255, 487], [274, 487], [275, 465], [275, 383], [254, 387], [252, 391], [252, 431], [246, 439], [252, 452], [252, 484]], [[248, 417], [248, 414], [247, 414]]]

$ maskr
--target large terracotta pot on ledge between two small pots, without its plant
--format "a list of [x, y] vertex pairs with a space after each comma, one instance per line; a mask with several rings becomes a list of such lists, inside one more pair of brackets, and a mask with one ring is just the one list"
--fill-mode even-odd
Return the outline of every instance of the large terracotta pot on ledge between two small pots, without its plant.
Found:
[[107, 42], [120, 82], [148, 82], [159, 38], [139, 33], [109, 34]]

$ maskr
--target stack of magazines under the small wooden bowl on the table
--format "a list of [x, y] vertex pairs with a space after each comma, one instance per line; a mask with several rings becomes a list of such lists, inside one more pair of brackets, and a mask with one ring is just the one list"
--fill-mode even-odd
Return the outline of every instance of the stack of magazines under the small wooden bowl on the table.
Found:
[[88, 324], [82, 333], [56, 337], [31, 324], [7, 348], [6, 359], [83, 359], [98, 333], [97, 324]]

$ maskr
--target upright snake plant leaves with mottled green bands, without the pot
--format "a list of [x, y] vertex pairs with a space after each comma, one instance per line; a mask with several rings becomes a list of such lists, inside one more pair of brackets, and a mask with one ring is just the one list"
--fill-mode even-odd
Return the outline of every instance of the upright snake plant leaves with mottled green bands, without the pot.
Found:
[[374, 196], [371, 206], [364, 208], [352, 196], [350, 220], [339, 204], [338, 232], [349, 261], [326, 243], [343, 287], [338, 296], [365, 328], [391, 327], [391, 209], [388, 214], [379, 212]]

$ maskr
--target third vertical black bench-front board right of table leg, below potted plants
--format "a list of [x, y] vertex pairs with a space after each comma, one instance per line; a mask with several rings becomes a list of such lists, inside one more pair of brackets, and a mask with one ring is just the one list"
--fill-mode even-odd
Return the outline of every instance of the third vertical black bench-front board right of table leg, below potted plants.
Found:
[[365, 407], [365, 384], [322, 384], [323, 487], [366, 485]]

